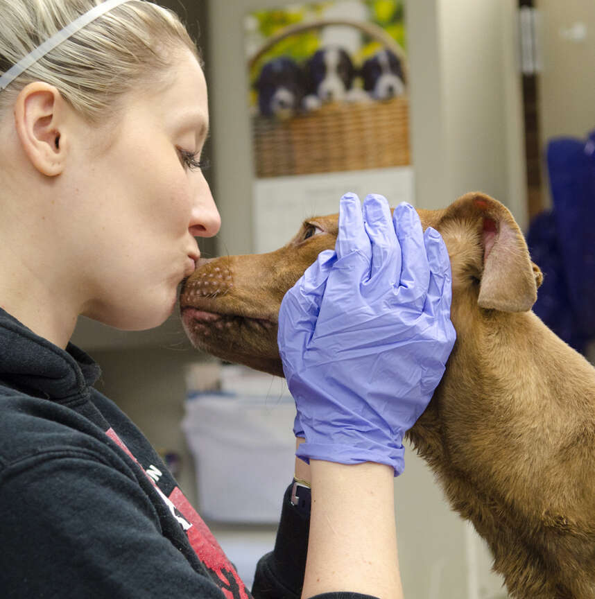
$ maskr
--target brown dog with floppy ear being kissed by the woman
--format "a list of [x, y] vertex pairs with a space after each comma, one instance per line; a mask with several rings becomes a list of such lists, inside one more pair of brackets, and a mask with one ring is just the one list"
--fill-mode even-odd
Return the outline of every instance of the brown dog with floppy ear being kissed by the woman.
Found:
[[[595, 369], [531, 312], [542, 274], [503, 205], [469, 193], [418, 212], [449, 250], [457, 340], [408, 438], [511, 596], [595, 598]], [[337, 221], [308, 219], [270, 254], [202, 261], [180, 302], [193, 344], [283, 376], [279, 305], [334, 248]]]

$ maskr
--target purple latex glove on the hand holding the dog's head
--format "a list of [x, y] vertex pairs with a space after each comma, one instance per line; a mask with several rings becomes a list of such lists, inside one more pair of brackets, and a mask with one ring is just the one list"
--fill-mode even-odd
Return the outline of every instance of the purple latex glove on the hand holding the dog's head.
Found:
[[[442, 237], [411, 205], [341, 198], [336, 252], [286, 293], [277, 341], [305, 462], [404, 469], [402, 440], [425, 410], [456, 333]], [[301, 433], [301, 435], [300, 435]]]

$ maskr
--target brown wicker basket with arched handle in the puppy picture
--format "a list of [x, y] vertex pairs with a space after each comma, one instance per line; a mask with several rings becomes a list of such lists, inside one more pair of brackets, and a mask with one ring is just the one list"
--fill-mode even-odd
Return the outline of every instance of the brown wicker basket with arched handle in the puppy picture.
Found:
[[[383, 29], [371, 23], [320, 20], [286, 28], [250, 60], [253, 65], [279, 40], [311, 28], [348, 25], [379, 40], [402, 61], [401, 47]], [[386, 168], [410, 164], [408, 96], [370, 103], [333, 103], [291, 119], [252, 117], [257, 177], [305, 175]]]

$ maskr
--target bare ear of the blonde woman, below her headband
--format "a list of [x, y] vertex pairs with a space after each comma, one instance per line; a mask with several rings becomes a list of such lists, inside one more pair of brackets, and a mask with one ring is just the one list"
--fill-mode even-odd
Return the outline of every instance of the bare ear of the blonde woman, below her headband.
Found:
[[43, 175], [55, 177], [64, 170], [67, 104], [58, 89], [36, 81], [21, 90], [15, 103], [15, 127], [31, 164]]

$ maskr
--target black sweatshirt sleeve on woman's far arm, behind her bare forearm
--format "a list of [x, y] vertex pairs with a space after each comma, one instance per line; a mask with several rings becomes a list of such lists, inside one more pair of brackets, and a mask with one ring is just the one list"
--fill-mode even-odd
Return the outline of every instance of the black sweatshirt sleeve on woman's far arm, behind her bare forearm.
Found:
[[[283, 496], [275, 548], [256, 567], [254, 599], [300, 599], [306, 571], [310, 515], [291, 503], [293, 483]], [[377, 599], [361, 593], [324, 593], [311, 599]]]

